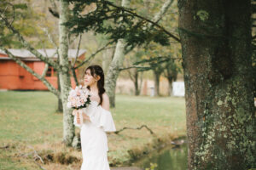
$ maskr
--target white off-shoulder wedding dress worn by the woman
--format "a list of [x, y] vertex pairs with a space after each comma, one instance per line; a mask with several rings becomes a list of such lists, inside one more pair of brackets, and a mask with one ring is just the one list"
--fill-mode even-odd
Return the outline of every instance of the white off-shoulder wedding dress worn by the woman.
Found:
[[83, 163], [80, 170], [110, 170], [108, 164], [108, 139], [106, 132], [116, 131], [110, 111], [102, 108], [96, 100], [91, 100], [88, 107], [82, 110], [90, 121], [82, 125], [77, 124], [74, 116], [74, 125], [79, 127]]

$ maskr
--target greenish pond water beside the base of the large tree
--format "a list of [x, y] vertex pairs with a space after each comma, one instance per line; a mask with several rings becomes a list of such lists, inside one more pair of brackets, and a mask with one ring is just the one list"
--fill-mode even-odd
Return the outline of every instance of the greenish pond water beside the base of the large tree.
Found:
[[166, 146], [161, 150], [155, 150], [147, 156], [133, 162], [132, 166], [150, 167], [151, 163], [156, 163], [154, 170], [186, 170], [187, 169], [187, 144], [181, 144], [173, 148], [173, 145]]

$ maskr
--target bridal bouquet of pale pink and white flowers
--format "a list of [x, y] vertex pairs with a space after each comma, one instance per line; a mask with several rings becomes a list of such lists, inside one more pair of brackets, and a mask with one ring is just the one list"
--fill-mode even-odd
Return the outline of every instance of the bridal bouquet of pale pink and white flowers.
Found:
[[[77, 110], [75, 112], [77, 113], [76, 116], [80, 117], [80, 124], [83, 124], [83, 111], [81, 109], [87, 107], [87, 105], [90, 105], [90, 90], [82, 87], [82, 85], [77, 86], [75, 89], [71, 88], [67, 99], [67, 107]], [[73, 116], [75, 115], [73, 114]], [[78, 124], [76, 117], [74, 121], [75, 124]]]

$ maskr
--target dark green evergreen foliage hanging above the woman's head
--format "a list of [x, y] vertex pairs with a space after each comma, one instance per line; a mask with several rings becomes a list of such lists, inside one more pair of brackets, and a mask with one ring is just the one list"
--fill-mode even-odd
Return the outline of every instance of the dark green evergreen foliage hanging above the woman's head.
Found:
[[73, 4], [73, 13], [66, 24], [75, 34], [93, 30], [115, 41], [124, 38], [131, 47], [151, 41], [164, 46], [170, 44], [169, 37], [162, 30], [147, 29], [148, 22], [137, 18], [135, 8], [119, 7], [105, 0], [67, 1]]

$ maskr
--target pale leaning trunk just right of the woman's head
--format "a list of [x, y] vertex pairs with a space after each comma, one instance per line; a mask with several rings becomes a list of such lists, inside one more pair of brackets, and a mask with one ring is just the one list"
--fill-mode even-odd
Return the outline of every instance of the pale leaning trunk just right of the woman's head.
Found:
[[[122, 6], [125, 8], [130, 7], [131, 0], [122, 0]], [[112, 62], [108, 69], [106, 77], [106, 92], [109, 97], [110, 107], [115, 106], [115, 87], [116, 81], [119, 77], [119, 67], [123, 65], [125, 59], [125, 40], [119, 39], [115, 48]]]

